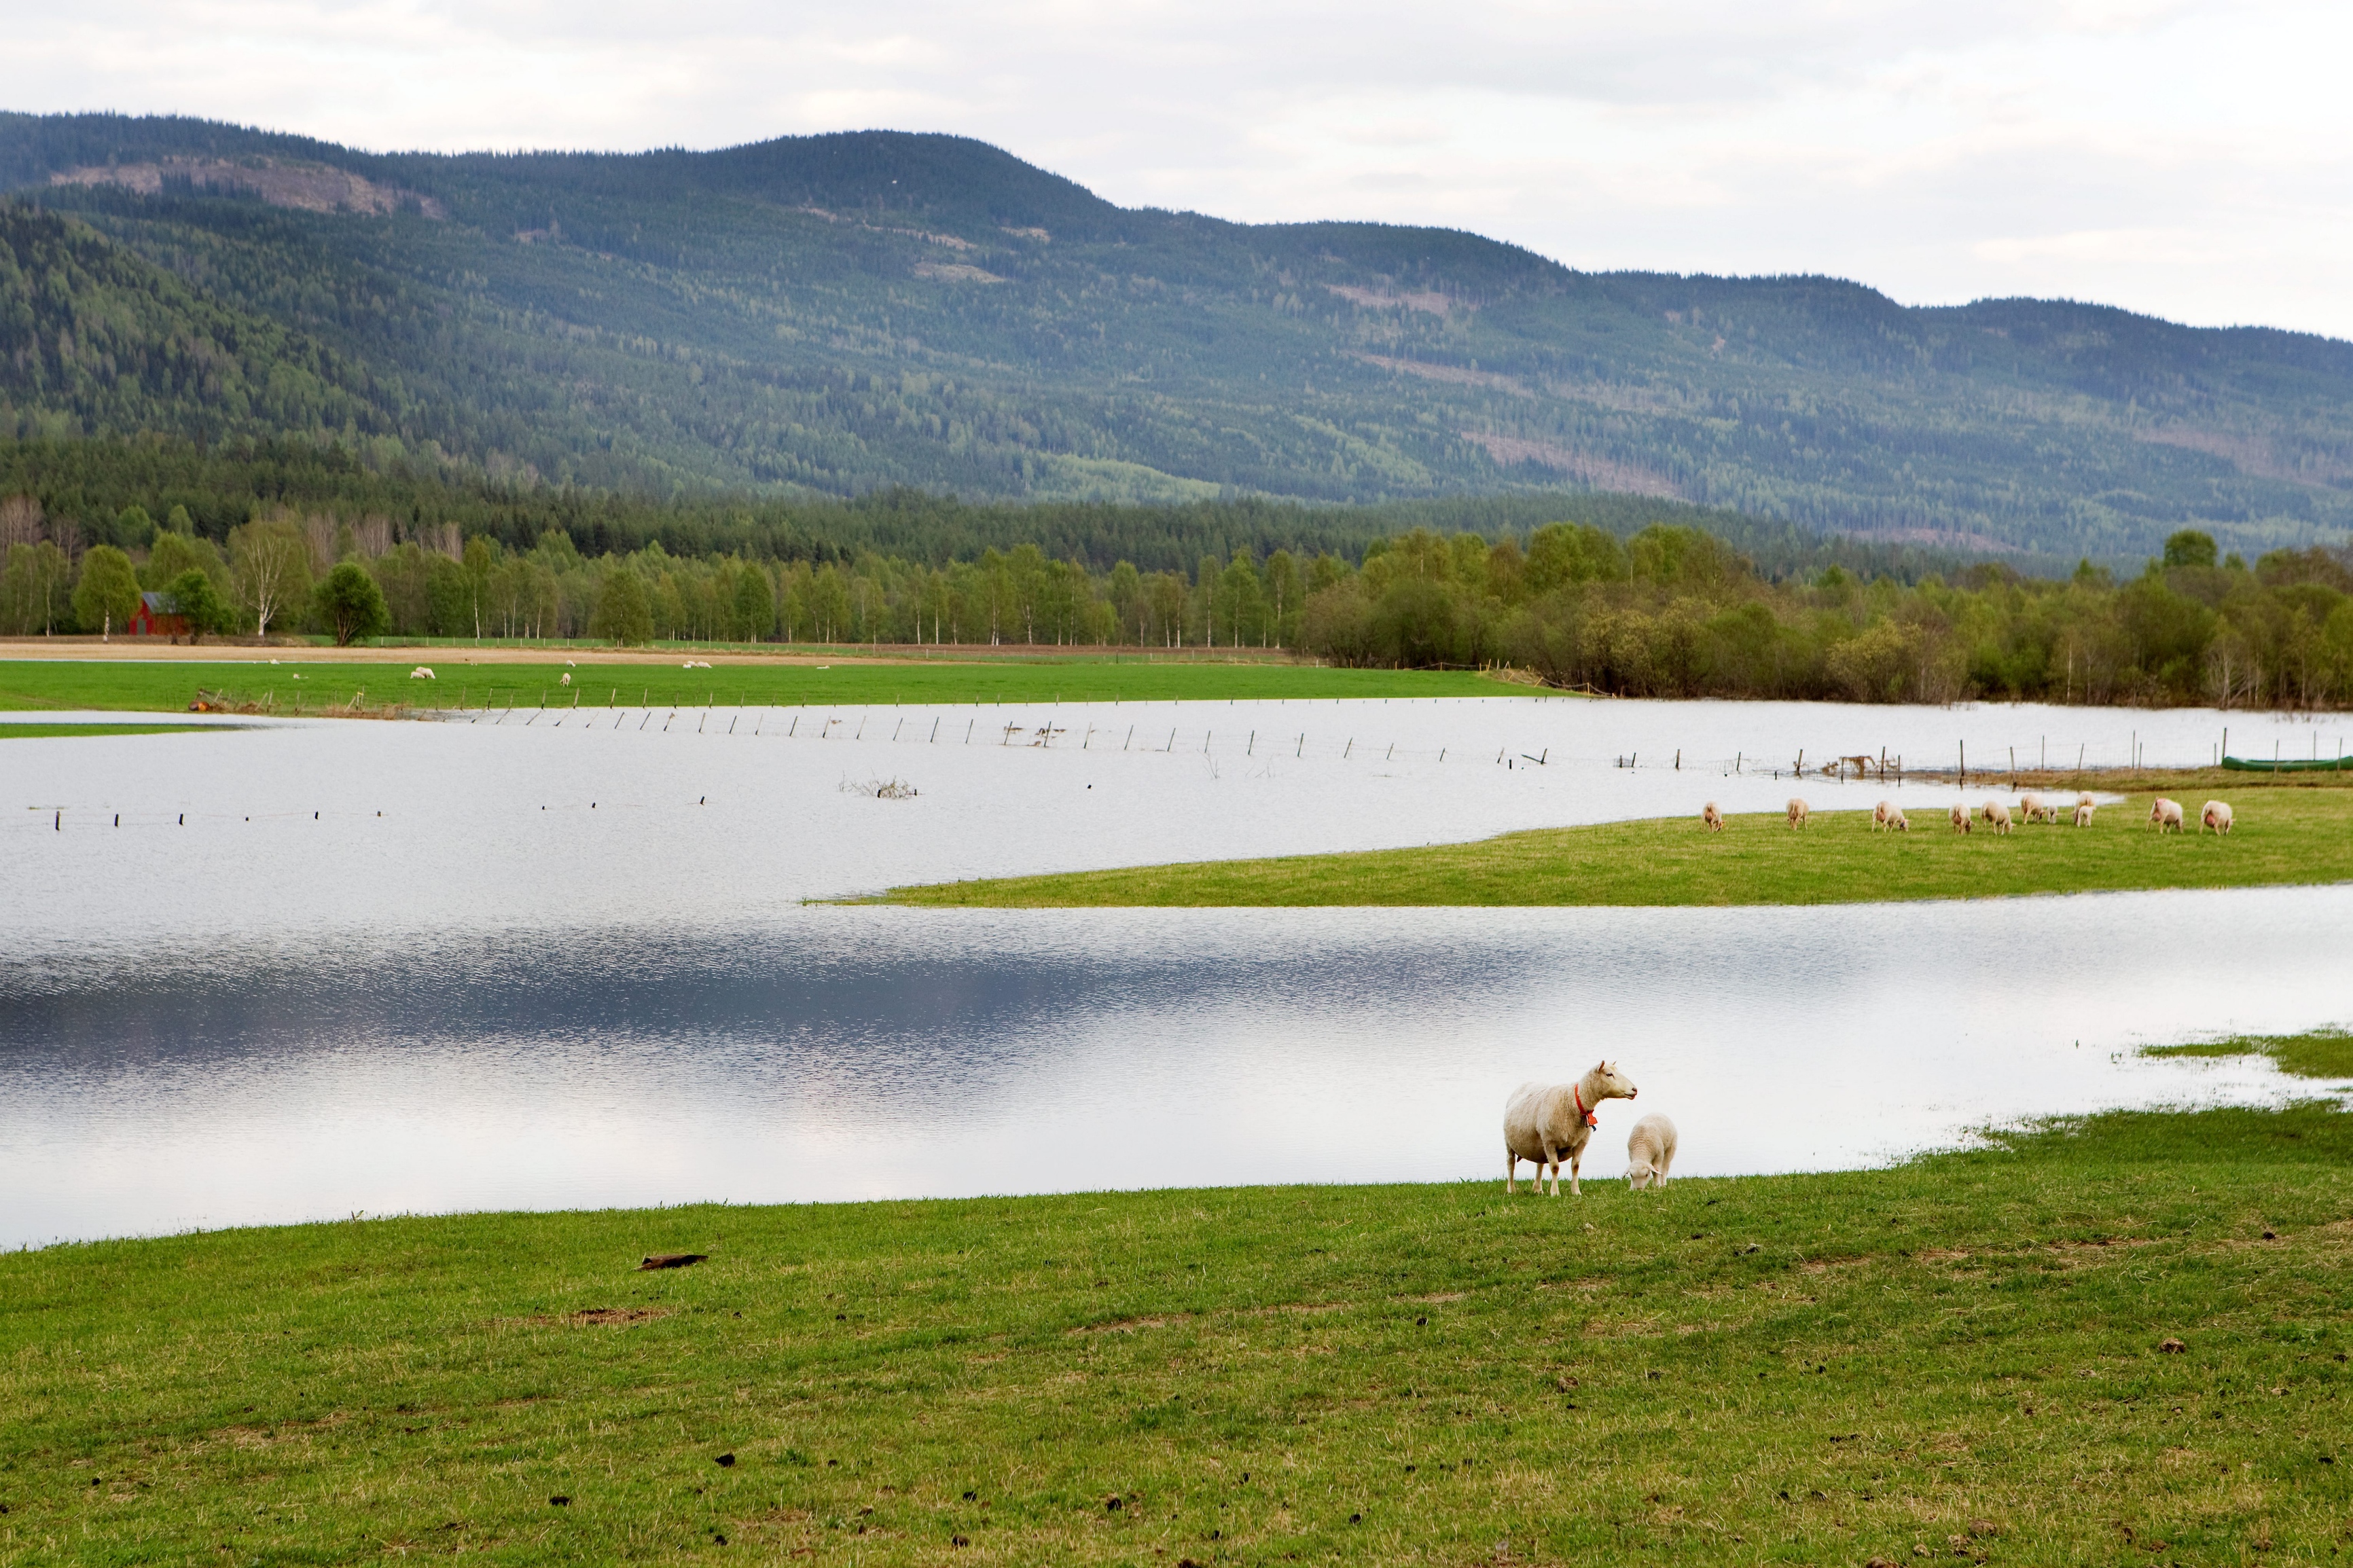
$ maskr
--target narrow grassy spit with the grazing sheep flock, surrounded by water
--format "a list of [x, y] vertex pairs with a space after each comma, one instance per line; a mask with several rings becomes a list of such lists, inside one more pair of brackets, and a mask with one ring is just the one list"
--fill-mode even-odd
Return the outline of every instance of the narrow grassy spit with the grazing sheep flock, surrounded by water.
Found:
[[[2139, 780], [2137, 780], [2139, 783]], [[1913, 813], [1871, 832], [1868, 811], [1654, 818], [1508, 832], [1475, 844], [1341, 856], [1198, 860], [1054, 877], [904, 886], [875, 903], [995, 910], [1245, 905], [1748, 905], [2012, 898], [2120, 889], [2280, 886], [2353, 879], [2353, 790], [2249, 785], [2228, 839], [2148, 827], [2148, 795], [2104, 806], [2092, 827], [1967, 837]], [[2073, 799], [2073, 795], [2068, 797]], [[2195, 813], [2205, 795], [2188, 799]]]

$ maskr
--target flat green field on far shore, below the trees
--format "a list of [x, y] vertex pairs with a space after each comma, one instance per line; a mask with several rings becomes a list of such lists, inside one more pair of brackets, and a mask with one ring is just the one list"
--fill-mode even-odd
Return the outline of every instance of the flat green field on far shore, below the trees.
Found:
[[[412, 682], [409, 670], [433, 665], [435, 679]], [[680, 661], [682, 665], [685, 661]], [[892, 705], [892, 703], [1167, 703], [1264, 698], [1417, 698], [1417, 696], [1541, 696], [1461, 670], [1322, 670], [1289, 663], [1111, 663], [974, 661], [816, 665], [456, 665], [447, 658], [398, 663], [191, 663], [191, 661], [33, 661], [0, 658], [0, 710], [122, 710], [186, 712], [200, 691], [231, 705], [268, 703], [273, 712], [365, 708], [386, 703], [539, 708], [569, 705]], [[572, 675], [572, 686], [562, 684]], [[294, 679], [294, 677], [301, 679]]]

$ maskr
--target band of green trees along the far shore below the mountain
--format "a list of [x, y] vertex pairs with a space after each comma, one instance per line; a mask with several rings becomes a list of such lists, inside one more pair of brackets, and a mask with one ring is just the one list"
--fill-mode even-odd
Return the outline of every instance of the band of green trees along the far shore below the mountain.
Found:
[[0, 632], [120, 632], [141, 592], [191, 635], [1282, 649], [1344, 665], [1532, 670], [1617, 696], [1951, 703], [2353, 701], [2353, 550], [2252, 567], [2184, 529], [2118, 581], [1979, 562], [1906, 583], [1840, 564], [1772, 581], [1682, 524], [1485, 536], [1405, 529], [1332, 550], [1202, 552], [1108, 569], [1035, 543], [922, 562], [680, 555], [659, 538], [525, 548], [456, 522], [259, 510], [214, 541], [141, 505], [89, 545], [33, 496], [0, 501]]

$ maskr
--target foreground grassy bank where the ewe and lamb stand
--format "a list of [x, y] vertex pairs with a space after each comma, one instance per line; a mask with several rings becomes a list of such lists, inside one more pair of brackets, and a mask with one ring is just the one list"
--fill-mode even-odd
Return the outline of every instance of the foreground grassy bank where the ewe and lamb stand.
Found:
[[61, 1246], [0, 1258], [0, 1563], [2311, 1563], [2348, 1265], [2322, 1107], [1661, 1194]]

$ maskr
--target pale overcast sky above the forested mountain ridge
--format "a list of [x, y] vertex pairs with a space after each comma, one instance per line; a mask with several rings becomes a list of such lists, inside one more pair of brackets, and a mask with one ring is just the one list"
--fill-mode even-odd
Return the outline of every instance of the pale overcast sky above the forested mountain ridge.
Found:
[[2353, 336], [2306, 0], [0, 0], [0, 106], [365, 148], [981, 136], [1122, 205]]

